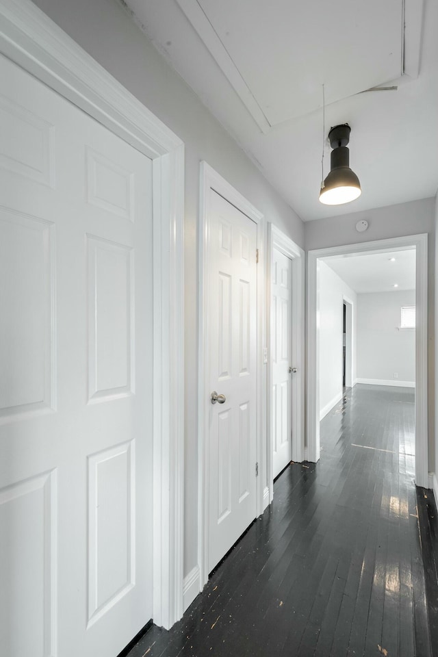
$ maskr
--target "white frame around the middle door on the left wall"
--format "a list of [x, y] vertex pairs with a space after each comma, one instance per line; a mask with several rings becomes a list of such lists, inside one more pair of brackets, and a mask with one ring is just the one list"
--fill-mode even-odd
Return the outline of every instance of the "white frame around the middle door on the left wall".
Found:
[[[214, 190], [231, 205], [257, 224], [257, 248], [259, 263], [257, 265], [257, 447], [256, 458], [259, 463], [259, 476], [256, 482], [256, 517], [263, 513], [263, 481], [266, 481], [266, 375], [263, 366], [263, 345], [265, 337], [265, 270], [263, 244], [266, 243], [266, 227], [263, 215], [237, 192], [207, 162], [201, 162], [201, 202], [199, 213], [199, 292], [198, 292], [198, 566], [199, 590], [206, 584], [209, 576], [209, 445], [208, 415], [206, 401], [208, 355], [207, 355], [207, 298], [209, 294], [209, 268], [207, 261], [209, 243], [209, 192]], [[230, 546], [231, 547], [231, 546]]]

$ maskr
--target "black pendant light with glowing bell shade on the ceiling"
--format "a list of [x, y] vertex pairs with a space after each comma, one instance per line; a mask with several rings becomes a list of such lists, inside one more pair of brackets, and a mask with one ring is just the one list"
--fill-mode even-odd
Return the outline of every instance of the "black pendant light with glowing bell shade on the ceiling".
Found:
[[350, 203], [362, 193], [359, 178], [350, 169], [350, 151], [347, 148], [350, 131], [348, 123], [343, 123], [335, 125], [329, 132], [333, 151], [330, 158], [330, 173], [321, 183], [320, 201], [324, 205]]

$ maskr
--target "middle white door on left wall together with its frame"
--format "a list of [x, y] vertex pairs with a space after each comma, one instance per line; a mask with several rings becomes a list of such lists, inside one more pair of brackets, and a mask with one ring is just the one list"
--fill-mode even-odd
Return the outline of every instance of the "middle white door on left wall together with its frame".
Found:
[[261, 513], [263, 216], [201, 164], [198, 590]]

